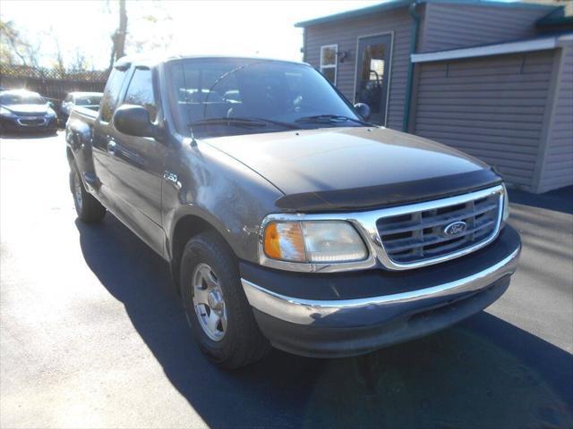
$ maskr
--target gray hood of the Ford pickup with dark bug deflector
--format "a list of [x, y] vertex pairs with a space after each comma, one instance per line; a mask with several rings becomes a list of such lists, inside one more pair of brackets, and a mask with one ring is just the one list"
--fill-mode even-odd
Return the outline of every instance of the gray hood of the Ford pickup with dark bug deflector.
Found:
[[284, 194], [277, 206], [338, 210], [462, 193], [500, 181], [458, 150], [384, 128], [296, 130], [206, 140]]

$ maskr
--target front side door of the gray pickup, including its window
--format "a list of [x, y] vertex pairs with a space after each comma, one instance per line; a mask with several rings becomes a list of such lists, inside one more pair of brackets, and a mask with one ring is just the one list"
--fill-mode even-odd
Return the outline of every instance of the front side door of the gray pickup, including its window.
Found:
[[[158, 116], [158, 103], [152, 71], [136, 67], [124, 91], [121, 104], [141, 105], [150, 113], [152, 122]], [[113, 127], [113, 175], [115, 204], [118, 215], [158, 253], [162, 253], [164, 232], [161, 227], [161, 183], [167, 147], [148, 137], [124, 134]]]

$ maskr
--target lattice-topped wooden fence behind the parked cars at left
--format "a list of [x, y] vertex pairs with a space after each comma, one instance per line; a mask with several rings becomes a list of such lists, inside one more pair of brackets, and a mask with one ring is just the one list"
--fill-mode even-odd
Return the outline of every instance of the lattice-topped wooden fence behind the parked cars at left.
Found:
[[108, 71], [66, 71], [0, 63], [0, 88], [25, 88], [59, 105], [69, 92], [103, 92]]

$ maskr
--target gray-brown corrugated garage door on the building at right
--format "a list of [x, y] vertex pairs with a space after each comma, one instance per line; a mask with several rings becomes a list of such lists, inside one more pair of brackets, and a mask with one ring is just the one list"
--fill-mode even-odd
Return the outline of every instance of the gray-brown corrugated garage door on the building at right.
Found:
[[554, 51], [421, 63], [415, 134], [457, 147], [532, 190]]

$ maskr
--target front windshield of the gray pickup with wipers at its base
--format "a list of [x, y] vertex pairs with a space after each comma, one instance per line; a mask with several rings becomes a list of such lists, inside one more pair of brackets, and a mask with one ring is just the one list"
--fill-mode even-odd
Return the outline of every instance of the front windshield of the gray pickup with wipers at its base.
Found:
[[211, 137], [363, 126], [312, 67], [256, 59], [193, 59], [170, 65], [178, 129]]

